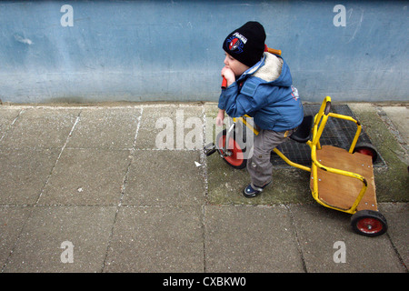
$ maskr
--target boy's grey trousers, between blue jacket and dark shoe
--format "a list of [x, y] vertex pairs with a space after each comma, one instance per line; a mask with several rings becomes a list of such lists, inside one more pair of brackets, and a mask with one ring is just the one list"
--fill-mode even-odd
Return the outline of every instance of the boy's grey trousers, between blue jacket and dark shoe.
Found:
[[273, 165], [270, 162], [271, 151], [293, 135], [295, 129], [284, 132], [260, 130], [254, 136], [253, 155], [247, 160], [247, 171], [251, 176], [253, 186], [264, 186], [272, 181]]

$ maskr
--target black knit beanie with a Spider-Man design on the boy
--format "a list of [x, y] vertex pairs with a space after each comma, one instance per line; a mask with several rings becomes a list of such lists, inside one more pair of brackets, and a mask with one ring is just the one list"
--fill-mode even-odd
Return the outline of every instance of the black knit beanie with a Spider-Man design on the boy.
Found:
[[252, 67], [260, 61], [264, 53], [264, 42], [263, 25], [249, 21], [225, 38], [223, 49], [239, 62]]

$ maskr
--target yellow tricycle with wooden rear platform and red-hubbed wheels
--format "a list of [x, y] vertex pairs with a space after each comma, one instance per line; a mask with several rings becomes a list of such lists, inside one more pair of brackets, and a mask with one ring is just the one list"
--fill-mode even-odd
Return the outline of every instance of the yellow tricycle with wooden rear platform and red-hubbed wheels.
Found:
[[[356, 146], [362, 130], [360, 123], [351, 116], [331, 113], [330, 109], [331, 97], [326, 96], [319, 112], [314, 116], [304, 116], [303, 123], [290, 136], [294, 141], [310, 146], [311, 167], [292, 162], [277, 148], [273, 151], [288, 165], [311, 172], [310, 188], [314, 200], [322, 206], [353, 215], [351, 226], [356, 233], [363, 236], [383, 235], [388, 226], [376, 203], [373, 168], [376, 150], [370, 145]], [[320, 145], [320, 137], [329, 117], [355, 123], [356, 132], [349, 150]], [[233, 118], [233, 124], [216, 136], [215, 145], [205, 146], [206, 156], [217, 151], [229, 166], [244, 168], [247, 152], [243, 140], [245, 134], [239, 137], [237, 132], [243, 133], [245, 130], [258, 135], [250, 118], [248, 115]]]

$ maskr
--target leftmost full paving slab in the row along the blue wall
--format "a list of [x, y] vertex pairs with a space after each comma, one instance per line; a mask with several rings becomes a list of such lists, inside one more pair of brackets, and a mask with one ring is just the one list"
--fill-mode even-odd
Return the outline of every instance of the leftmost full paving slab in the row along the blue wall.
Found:
[[5, 148], [61, 148], [79, 109], [25, 108], [0, 142]]

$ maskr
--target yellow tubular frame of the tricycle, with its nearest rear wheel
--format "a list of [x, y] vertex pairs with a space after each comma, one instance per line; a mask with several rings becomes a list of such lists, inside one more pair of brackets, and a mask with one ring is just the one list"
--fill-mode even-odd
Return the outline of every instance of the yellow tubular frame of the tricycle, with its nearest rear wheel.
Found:
[[[326, 96], [324, 98], [322, 105], [320, 106], [318, 113], [314, 115], [314, 118], [313, 116], [304, 116], [303, 124], [300, 125], [300, 127], [303, 127], [302, 132], [296, 133], [294, 134], [294, 136], [293, 135], [290, 136], [290, 138], [294, 139], [295, 141], [299, 143], [305, 143], [308, 146], [310, 146], [311, 159], [312, 159], [311, 166], [304, 166], [304, 165], [294, 163], [287, 156], [284, 156], [284, 154], [277, 148], [274, 148], [273, 151], [277, 156], [280, 156], [284, 160], [284, 162], [288, 164], [289, 166], [294, 166], [296, 168], [299, 168], [299, 169], [302, 169], [304, 171], [308, 171], [311, 173], [312, 182], [310, 184], [310, 188], [312, 191], [312, 196], [314, 197], [314, 200], [316, 202], [318, 202], [322, 206], [353, 215], [351, 217], [351, 225], [353, 226], [354, 231], [357, 232], [358, 234], [363, 235], [363, 236], [380, 236], [384, 234], [384, 232], [386, 232], [387, 223], [386, 223], [386, 219], [384, 218], [384, 216], [377, 211], [377, 206], [374, 205], [376, 204], [376, 198], [375, 198], [374, 192], [373, 194], [370, 194], [374, 196], [372, 197], [372, 201], [373, 201], [372, 209], [365, 209], [364, 206], [360, 206], [360, 203], [363, 200], [363, 197], [366, 193], [366, 190], [368, 189], [369, 184], [372, 183], [373, 185], [371, 186], [374, 188], [374, 176], [373, 176], [374, 174], [373, 174], [373, 169], [372, 169], [373, 167], [372, 157], [368, 161], [368, 164], [370, 164], [370, 166], [368, 167], [371, 167], [371, 170], [372, 170], [372, 176], [369, 176], [369, 177], [362, 176], [353, 171], [347, 171], [347, 170], [335, 168], [334, 166], [333, 167], [324, 166], [321, 163], [321, 161], [317, 158], [317, 152], [323, 149], [323, 147], [320, 144], [320, 137], [324, 132], [324, 127], [329, 117], [339, 118], [339, 119], [344, 119], [346, 121], [354, 122], [354, 124], [356, 125], [354, 139], [351, 143], [351, 146], [349, 147], [349, 150], [346, 151], [346, 150], [341, 149], [341, 151], [344, 151], [344, 153], [343, 152], [341, 153], [345, 155], [346, 157], [348, 157], [358, 152], [356, 145], [357, 145], [359, 135], [361, 134], [361, 131], [362, 131], [361, 124], [359, 123], [359, 121], [355, 120], [351, 116], [335, 114], [335, 113], [330, 112], [330, 109], [331, 109], [331, 97]], [[254, 135], [258, 135], [257, 129], [254, 128], [254, 126], [248, 122], [248, 118], [251, 118], [251, 117], [248, 115], [244, 115], [238, 118], [233, 118], [233, 124], [229, 125], [228, 128], [226, 129], [224, 145], [223, 146], [213, 145], [210, 147], [209, 145], [205, 146], [206, 156], [212, 155], [217, 150], [220, 156], [224, 159], [224, 161], [226, 161], [227, 164], [231, 165], [226, 160], [226, 158], [234, 155], [234, 149], [229, 148], [228, 143], [231, 140], [231, 138], [233, 139], [235, 138], [234, 135], [235, 135], [237, 125], [239, 123], [242, 123], [247, 128], [249, 128], [250, 131], [254, 133]], [[332, 148], [338, 150], [337, 147], [332, 147]], [[374, 151], [374, 148], [365, 148], [365, 150], [366, 151], [370, 150], [373, 156], [377, 156], [376, 152]], [[367, 152], [365, 154], [367, 154]], [[362, 155], [362, 154], [358, 154], [358, 155]], [[322, 198], [320, 198], [320, 191], [319, 191], [319, 186], [318, 186], [318, 181], [320, 180], [319, 179], [320, 172], [321, 173], [333, 173], [338, 176], [346, 176], [346, 177], [350, 177], [350, 178], [359, 180], [362, 183], [362, 187], [359, 191], [359, 194], [354, 199], [354, 203], [351, 206], [345, 208], [342, 206], [337, 206], [336, 200], [335, 200], [335, 203], [330, 205], [326, 203]], [[359, 209], [358, 211], [357, 210], [358, 206], [363, 208], [363, 210]]]

